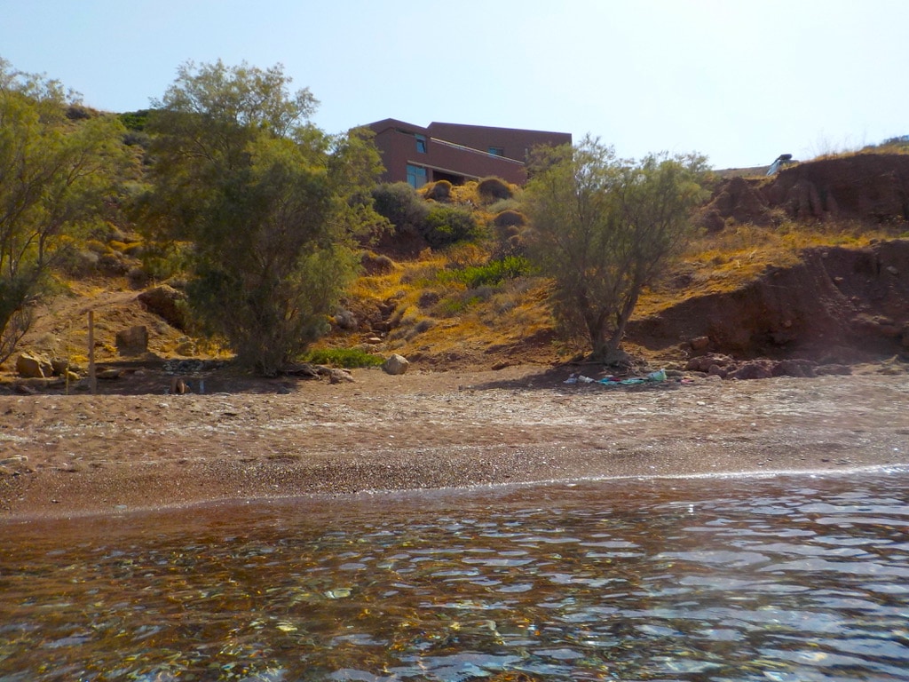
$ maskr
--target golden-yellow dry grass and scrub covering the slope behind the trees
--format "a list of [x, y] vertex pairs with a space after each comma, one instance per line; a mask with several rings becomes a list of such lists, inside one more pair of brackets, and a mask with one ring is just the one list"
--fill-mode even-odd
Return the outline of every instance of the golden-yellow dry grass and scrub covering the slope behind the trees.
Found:
[[[385, 267], [366, 272], [349, 291], [345, 307], [356, 326], [333, 326], [317, 347], [356, 348], [380, 356], [399, 353], [427, 368], [553, 363], [583, 351], [583, 339], [555, 334], [545, 280], [522, 275], [470, 286], [462, 276], [469, 268], [483, 268], [515, 249], [520, 252], [520, 188], [507, 190], [507, 196], [490, 195], [475, 182], [435, 191], [425, 187], [422, 195], [430, 205], [469, 207], [483, 237], [412, 253], [367, 246]], [[768, 266], [794, 265], [808, 247], [865, 246], [894, 236], [905, 236], [905, 226], [806, 224], [784, 216], [772, 227], [728, 221], [720, 232], [696, 236], [683, 258], [645, 290], [636, 316], [657, 314], [693, 296], [733, 291]], [[106, 239], [95, 236], [80, 249], [76, 266], [59, 275], [64, 293], [39, 311], [35, 328], [25, 337], [26, 348], [85, 366], [86, 315], [94, 310], [99, 362], [123, 359], [115, 334], [134, 325], [149, 330], [146, 359], [229, 356], [216, 341], [186, 336], [135, 301], [138, 288], [156, 282], [139, 259], [144, 245], [137, 236], [112, 227]], [[7, 373], [12, 364], [10, 360], [4, 367]]]

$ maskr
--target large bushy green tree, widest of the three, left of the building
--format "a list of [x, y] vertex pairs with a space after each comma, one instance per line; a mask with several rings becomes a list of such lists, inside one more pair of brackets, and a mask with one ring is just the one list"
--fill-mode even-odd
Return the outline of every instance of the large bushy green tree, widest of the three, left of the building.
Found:
[[197, 319], [265, 375], [327, 331], [355, 274], [353, 237], [379, 221], [375, 146], [309, 125], [316, 101], [290, 82], [281, 65], [187, 63], [147, 127], [146, 226], [189, 243]]

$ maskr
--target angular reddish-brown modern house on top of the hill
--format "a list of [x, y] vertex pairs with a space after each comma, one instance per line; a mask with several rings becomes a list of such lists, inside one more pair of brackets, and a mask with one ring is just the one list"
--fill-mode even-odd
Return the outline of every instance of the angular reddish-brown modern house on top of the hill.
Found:
[[570, 145], [570, 133], [431, 123], [423, 128], [394, 118], [368, 125], [382, 154], [382, 182], [415, 187], [437, 180], [463, 185], [481, 177], [501, 177], [523, 185], [527, 153], [537, 145]]

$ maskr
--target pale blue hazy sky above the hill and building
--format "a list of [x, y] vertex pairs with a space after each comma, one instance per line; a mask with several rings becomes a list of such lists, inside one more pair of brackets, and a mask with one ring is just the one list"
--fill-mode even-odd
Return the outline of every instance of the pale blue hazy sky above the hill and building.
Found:
[[529, 128], [715, 168], [909, 134], [906, 35], [907, 0], [0, 0], [0, 57], [105, 111], [190, 60], [281, 64], [328, 133]]

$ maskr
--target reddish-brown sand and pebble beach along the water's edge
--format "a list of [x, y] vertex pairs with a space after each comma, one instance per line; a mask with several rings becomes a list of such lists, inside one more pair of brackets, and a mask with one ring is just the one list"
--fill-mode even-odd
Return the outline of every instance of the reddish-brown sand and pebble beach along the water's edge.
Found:
[[611, 476], [909, 464], [909, 375], [566, 386], [358, 370], [281, 392], [0, 396], [0, 521]]

